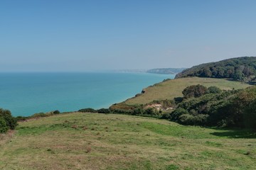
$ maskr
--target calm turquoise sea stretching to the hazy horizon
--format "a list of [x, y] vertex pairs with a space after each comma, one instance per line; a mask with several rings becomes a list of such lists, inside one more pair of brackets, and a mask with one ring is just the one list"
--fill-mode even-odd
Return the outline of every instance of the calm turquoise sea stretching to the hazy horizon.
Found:
[[0, 107], [15, 116], [108, 108], [174, 75], [146, 73], [1, 73]]

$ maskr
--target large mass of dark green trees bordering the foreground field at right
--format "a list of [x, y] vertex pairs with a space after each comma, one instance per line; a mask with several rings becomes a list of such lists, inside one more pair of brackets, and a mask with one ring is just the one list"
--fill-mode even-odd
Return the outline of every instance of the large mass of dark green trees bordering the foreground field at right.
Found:
[[256, 87], [189, 98], [165, 117], [183, 125], [256, 129]]

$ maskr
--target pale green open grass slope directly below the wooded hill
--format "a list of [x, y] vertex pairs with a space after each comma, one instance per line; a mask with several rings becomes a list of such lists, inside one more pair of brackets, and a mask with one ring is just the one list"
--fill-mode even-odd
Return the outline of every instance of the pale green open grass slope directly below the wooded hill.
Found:
[[172, 99], [176, 97], [182, 97], [182, 91], [187, 86], [201, 84], [203, 86], [218, 86], [220, 89], [243, 89], [248, 84], [244, 84], [238, 81], [229, 81], [226, 79], [212, 79], [212, 78], [199, 78], [199, 77], [189, 77], [173, 79], [169, 81], [164, 81], [154, 86], [149, 86], [145, 89], [146, 93], [141, 96], [134, 98], [129, 98], [124, 103], [128, 105], [133, 104], [146, 104], [154, 100], [165, 100]]

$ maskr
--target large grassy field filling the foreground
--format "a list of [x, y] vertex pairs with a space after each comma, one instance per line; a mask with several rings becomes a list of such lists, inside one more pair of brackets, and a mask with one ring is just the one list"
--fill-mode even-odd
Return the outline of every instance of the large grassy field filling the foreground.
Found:
[[0, 169], [256, 169], [256, 133], [131, 115], [54, 115], [8, 139]]

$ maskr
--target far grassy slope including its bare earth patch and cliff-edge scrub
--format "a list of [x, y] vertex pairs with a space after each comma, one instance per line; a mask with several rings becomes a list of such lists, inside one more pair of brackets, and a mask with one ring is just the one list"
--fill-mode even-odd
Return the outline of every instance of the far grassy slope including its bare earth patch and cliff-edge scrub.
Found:
[[[183, 90], [187, 86], [206, 86], [210, 91], [222, 91], [232, 89], [245, 89], [250, 84], [240, 81], [229, 81], [227, 79], [213, 79], [201, 77], [186, 77], [180, 79], [167, 79], [159, 84], [154, 84], [143, 89], [142, 94], [127, 99], [122, 103], [115, 103], [110, 106], [113, 113], [126, 113], [131, 115], [144, 115], [144, 111], [148, 108], [155, 112], [154, 118], [162, 118], [164, 113], [170, 113], [183, 101]], [[217, 88], [217, 89], [216, 89]]]

